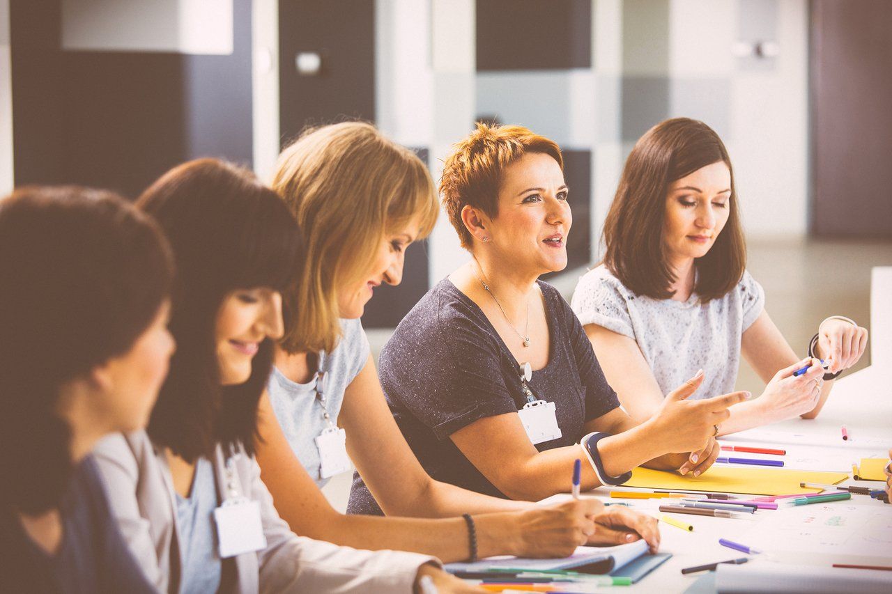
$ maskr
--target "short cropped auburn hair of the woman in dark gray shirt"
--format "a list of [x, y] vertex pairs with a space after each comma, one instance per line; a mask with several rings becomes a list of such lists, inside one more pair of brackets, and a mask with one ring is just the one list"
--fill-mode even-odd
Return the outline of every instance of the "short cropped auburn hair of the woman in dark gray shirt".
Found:
[[477, 123], [477, 128], [454, 144], [443, 163], [440, 195], [461, 246], [470, 250], [471, 232], [461, 219], [465, 206], [483, 210], [490, 219], [499, 214], [499, 188], [502, 171], [526, 153], [545, 153], [564, 170], [564, 158], [557, 143], [523, 126], [495, 126]]

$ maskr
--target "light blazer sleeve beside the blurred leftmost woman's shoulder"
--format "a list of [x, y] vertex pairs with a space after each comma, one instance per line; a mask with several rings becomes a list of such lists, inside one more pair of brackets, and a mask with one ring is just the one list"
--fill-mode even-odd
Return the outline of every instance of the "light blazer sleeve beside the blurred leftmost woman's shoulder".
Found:
[[133, 450], [121, 433], [112, 433], [100, 440], [94, 450], [96, 466], [103, 477], [111, 514], [131, 555], [142, 567], [145, 577], [161, 592], [168, 590], [169, 563], [159, 562], [149, 521], [140, 514], [136, 497], [139, 466]]

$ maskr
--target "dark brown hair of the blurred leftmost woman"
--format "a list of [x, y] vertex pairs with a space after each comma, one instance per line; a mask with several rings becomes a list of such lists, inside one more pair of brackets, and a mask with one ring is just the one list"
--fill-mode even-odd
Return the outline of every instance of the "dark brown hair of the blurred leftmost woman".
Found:
[[120, 196], [22, 187], [0, 201], [0, 503], [56, 507], [71, 473], [63, 384], [130, 350], [167, 298], [161, 231]]

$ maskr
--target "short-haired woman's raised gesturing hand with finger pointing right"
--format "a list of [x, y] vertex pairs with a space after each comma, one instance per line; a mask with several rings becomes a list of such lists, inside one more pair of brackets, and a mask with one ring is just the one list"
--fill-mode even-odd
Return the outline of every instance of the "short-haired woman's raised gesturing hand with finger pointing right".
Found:
[[749, 392], [731, 392], [704, 400], [688, 400], [703, 384], [700, 369], [684, 384], [669, 392], [657, 413], [647, 423], [665, 452], [701, 452], [718, 433], [716, 425], [731, 416], [728, 408], [747, 400]]

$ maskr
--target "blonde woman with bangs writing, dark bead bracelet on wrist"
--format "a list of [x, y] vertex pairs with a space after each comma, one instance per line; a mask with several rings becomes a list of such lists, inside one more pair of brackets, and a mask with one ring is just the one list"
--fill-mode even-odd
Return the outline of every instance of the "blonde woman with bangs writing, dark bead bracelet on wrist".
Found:
[[[257, 457], [294, 532], [443, 561], [564, 556], [582, 543], [642, 537], [657, 548], [648, 516], [605, 511], [595, 499], [537, 507], [466, 491], [434, 481], [409, 450], [359, 317], [376, 286], [400, 283], [409, 244], [434, 227], [434, 186], [414, 153], [368, 124], [318, 128], [285, 149], [273, 186], [298, 219], [306, 263], [285, 295]], [[404, 517], [335, 512], [318, 487], [350, 460], [384, 512]], [[569, 488], [570, 474], [566, 481]]]

